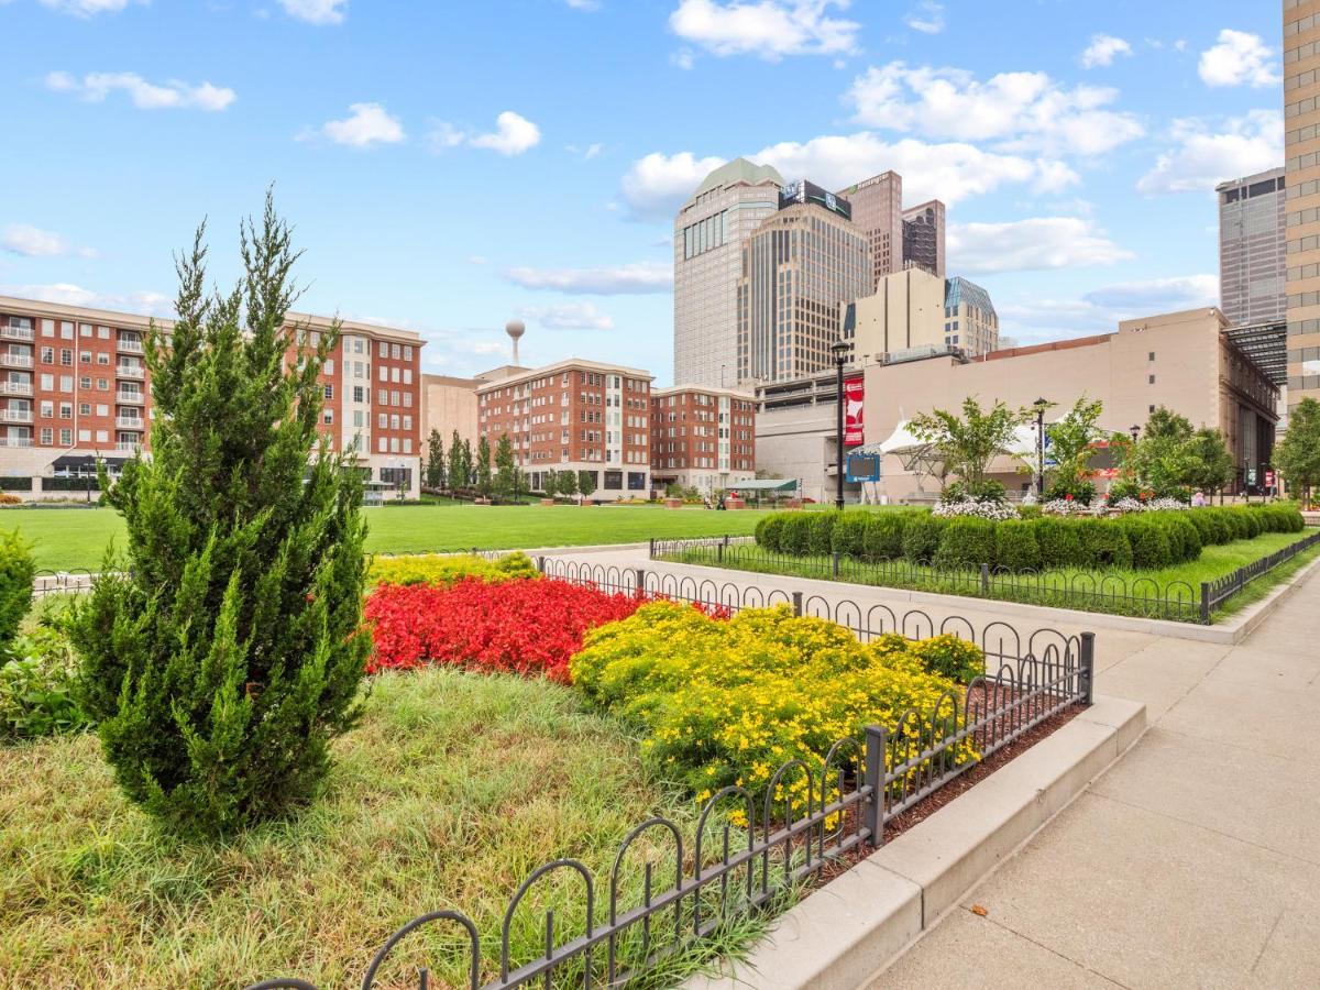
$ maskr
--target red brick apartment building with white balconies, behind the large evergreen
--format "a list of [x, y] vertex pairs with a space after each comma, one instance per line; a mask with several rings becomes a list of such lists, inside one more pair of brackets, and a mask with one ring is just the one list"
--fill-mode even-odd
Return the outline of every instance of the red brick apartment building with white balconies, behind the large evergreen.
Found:
[[[290, 314], [312, 342], [325, 317]], [[111, 470], [149, 447], [150, 318], [0, 296], [0, 475], [49, 478]], [[173, 323], [157, 319], [168, 330]], [[358, 444], [371, 480], [416, 495], [421, 457], [421, 348], [408, 330], [342, 322], [321, 375], [322, 433]], [[91, 458], [91, 459], [88, 459]], [[40, 494], [40, 482], [33, 484]], [[22, 495], [22, 491], [17, 492]]]

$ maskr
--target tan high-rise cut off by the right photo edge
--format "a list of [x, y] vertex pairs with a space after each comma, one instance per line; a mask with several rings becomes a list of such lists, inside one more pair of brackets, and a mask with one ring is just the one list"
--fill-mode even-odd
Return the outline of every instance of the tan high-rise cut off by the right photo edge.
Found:
[[1283, 0], [1288, 408], [1320, 399], [1320, 0]]

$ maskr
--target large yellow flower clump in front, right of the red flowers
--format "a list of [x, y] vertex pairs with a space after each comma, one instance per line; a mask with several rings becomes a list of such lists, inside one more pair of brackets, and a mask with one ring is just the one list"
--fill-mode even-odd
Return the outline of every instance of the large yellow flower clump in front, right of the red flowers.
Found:
[[[908, 708], [929, 715], [950, 689], [961, 702], [961, 689], [931, 673], [920, 652], [902, 636], [858, 643], [842, 626], [795, 618], [788, 606], [722, 622], [657, 602], [587, 632], [570, 672], [594, 705], [645, 730], [644, 758], [697, 800], [729, 784], [763, 797], [791, 759], [804, 759], [818, 781], [838, 739], [861, 741], [867, 725], [892, 730]], [[952, 713], [945, 723], [952, 731]], [[953, 759], [975, 759], [975, 751], [964, 743]], [[784, 784], [801, 809], [803, 775], [791, 772]]]

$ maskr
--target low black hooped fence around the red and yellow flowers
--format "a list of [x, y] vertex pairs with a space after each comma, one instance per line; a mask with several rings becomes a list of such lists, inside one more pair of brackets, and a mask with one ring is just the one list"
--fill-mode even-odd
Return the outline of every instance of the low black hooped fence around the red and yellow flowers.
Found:
[[[795, 759], [768, 780], [763, 795], [725, 787], [701, 808], [690, 841], [685, 829], [665, 817], [639, 824], [620, 842], [603, 888], [577, 859], [554, 859], [533, 870], [508, 900], [499, 933], [499, 952], [483, 952], [473, 920], [457, 909], [421, 915], [399, 928], [366, 970], [371, 990], [387, 978], [387, 964], [401, 944], [418, 946], [413, 933], [447, 927], [445, 942], [462, 946], [465, 985], [470, 990], [541, 986], [612, 987], [653, 972], [676, 953], [700, 948], [731, 919], [779, 903], [828, 863], [865, 854], [884, 841], [884, 825], [1047, 718], [1074, 705], [1089, 705], [1094, 672], [1094, 636], [1056, 630], [1022, 635], [1007, 623], [979, 631], [968, 619], [936, 623], [920, 610], [898, 616], [884, 606], [862, 610], [855, 603], [779, 589], [738, 587], [733, 582], [675, 578], [645, 569], [610, 568], [570, 560], [540, 558], [543, 573], [606, 591], [700, 602], [731, 611], [777, 603], [799, 615], [818, 615], [847, 626], [865, 640], [888, 632], [909, 639], [952, 634], [981, 645], [986, 672], [965, 688], [945, 692], [927, 711], [908, 710], [894, 726], [869, 726], [862, 738], [840, 739], [824, 760], [810, 766]], [[789, 787], [789, 784], [795, 784]], [[805, 787], [804, 787], [805, 784]], [[791, 795], [796, 795], [792, 797]], [[737, 824], [735, 824], [737, 822]], [[636, 853], [639, 840], [656, 837], [668, 847], [660, 861]], [[632, 855], [630, 855], [632, 853]], [[645, 859], [644, 862], [638, 862]], [[624, 870], [639, 870], [640, 898], [626, 903]], [[561, 931], [553, 911], [544, 915], [544, 948], [535, 958], [516, 958], [511, 932], [519, 909], [548, 878], [581, 880], [585, 923]], [[638, 874], [634, 874], [634, 879]], [[635, 884], [634, 884], [635, 887]], [[425, 936], [420, 936], [425, 937]], [[430, 958], [434, 958], [432, 956]], [[397, 969], [399, 962], [395, 962]], [[399, 973], [388, 975], [392, 983]], [[429, 973], [418, 969], [425, 990]], [[280, 978], [248, 990], [317, 990], [301, 979]]]

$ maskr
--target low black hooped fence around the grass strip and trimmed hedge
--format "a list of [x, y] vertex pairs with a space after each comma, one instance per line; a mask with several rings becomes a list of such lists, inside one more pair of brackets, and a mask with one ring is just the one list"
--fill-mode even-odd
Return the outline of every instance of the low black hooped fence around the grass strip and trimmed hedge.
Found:
[[1195, 587], [1187, 581], [1160, 582], [1107, 572], [1008, 570], [978, 566], [937, 566], [907, 560], [861, 561], [832, 553], [800, 557], [766, 550], [746, 539], [652, 540], [652, 560], [731, 568], [756, 573], [847, 581], [969, 598], [994, 598], [1022, 605], [1047, 605], [1082, 611], [1172, 619], [1210, 624], [1216, 610], [1253, 579], [1315, 546], [1320, 533], [1307, 536], [1245, 568]]

